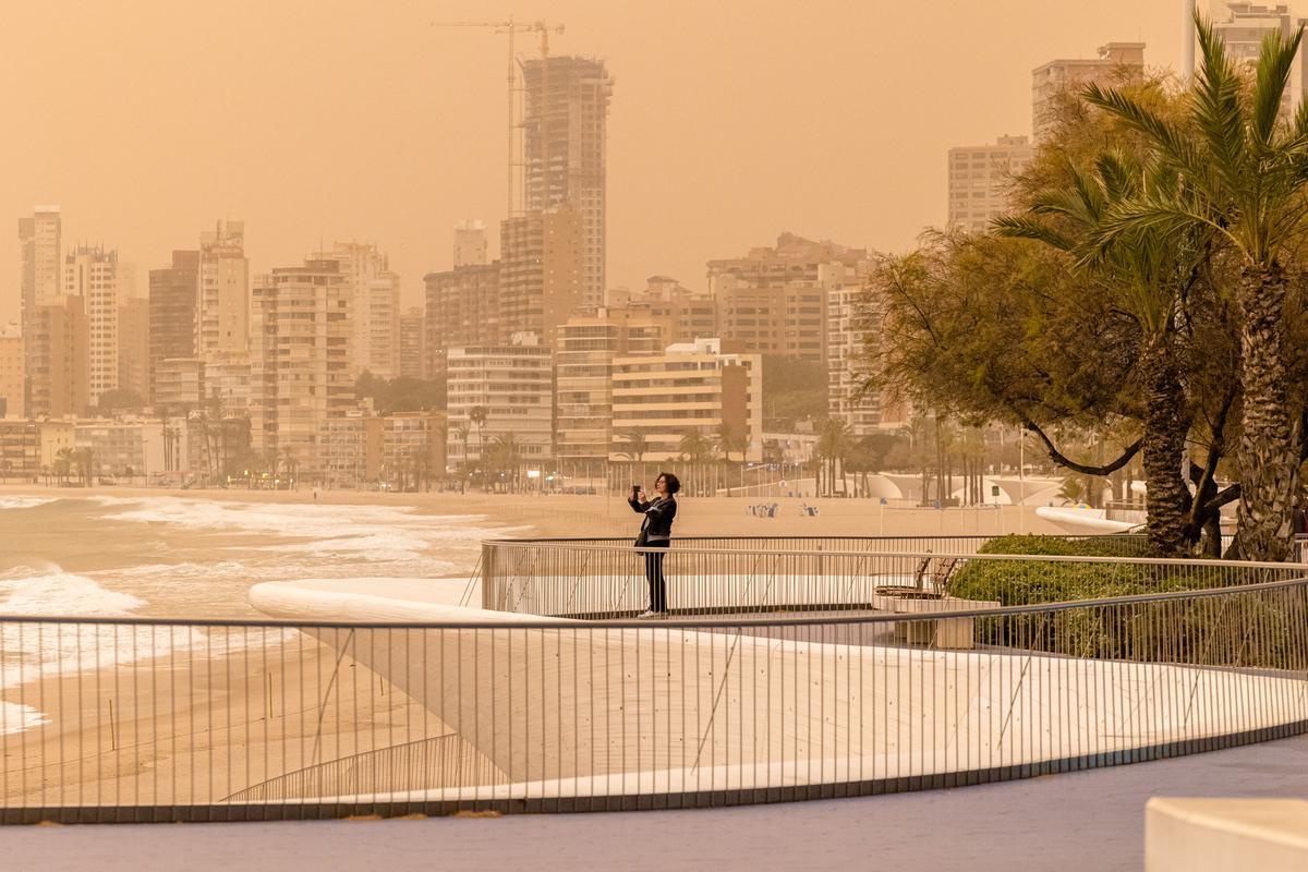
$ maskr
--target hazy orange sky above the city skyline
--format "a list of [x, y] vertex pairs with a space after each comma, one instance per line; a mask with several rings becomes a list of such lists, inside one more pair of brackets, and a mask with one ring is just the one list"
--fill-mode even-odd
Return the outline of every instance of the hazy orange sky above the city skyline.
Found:
[[1033, 67], [1181, 50], [1176, 0], [7, 3], [0, 322], [17, 220], [47, 203], [65, 247], [116, 246], [141, 294], [230, 217], [254, 272], [375, 241], [416, 305], [454, 222], [505, 208], [505, 38], [428, 22], [508, 13], [608, 61], [608, 276], [632, 288], [702, 288], [706, 259], [783, 230], [903, 248], [944, 218], [946, 149], [1029, 133]]

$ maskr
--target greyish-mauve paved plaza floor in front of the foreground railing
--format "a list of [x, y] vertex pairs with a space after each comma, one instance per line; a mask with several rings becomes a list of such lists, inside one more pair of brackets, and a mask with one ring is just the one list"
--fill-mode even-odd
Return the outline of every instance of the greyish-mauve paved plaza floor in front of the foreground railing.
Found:
[[10, 828], [4, 868], [1139, 869], [1150, 796], [1308, 797], [1308, 736], [922, 794], [485, 820]]

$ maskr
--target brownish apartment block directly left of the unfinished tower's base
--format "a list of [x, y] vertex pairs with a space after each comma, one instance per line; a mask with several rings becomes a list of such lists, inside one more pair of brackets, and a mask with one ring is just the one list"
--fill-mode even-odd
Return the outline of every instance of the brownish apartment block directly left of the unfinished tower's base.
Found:
[[500, 328], [500, 261], [455, 267], [422, 277], [426, 286], [424, 329], [428, 378], [443, 378], [446, 353], [456, 345], [508, 341]]

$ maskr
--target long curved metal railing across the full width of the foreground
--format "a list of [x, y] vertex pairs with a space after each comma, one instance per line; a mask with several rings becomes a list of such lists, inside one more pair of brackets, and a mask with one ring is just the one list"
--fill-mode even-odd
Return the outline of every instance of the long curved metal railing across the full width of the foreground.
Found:
[[1303, 578], [747, 621], [5, 617], [0, 650], [8, 822], [764, 803], [1308, 728]]

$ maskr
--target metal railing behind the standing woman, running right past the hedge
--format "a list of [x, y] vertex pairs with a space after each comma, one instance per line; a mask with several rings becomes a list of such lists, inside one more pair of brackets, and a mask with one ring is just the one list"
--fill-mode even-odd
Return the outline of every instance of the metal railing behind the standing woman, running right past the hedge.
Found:
[[[485, 541], [481, 607], [547, 617], [632, 617], [650, 605], [646, 554], [662, 561], [668, 608], [678, 616], [1029, 605], [1232, 587], [1308, 573], [1294, 563], [871, 548], [790, 550], [791, 540], [772, 544], [747, 550], [740, 543], [735, 549], [701, 548], [698, 543], [637, 549], [560, 540]], [[804, 544], [811, 545], [799, 543]]]

